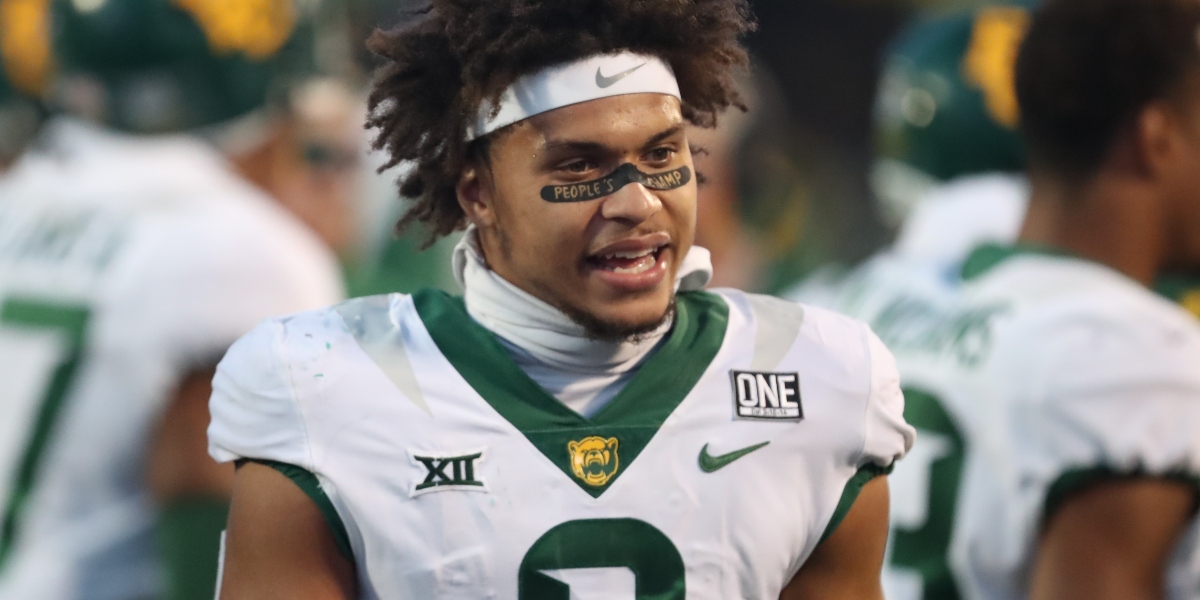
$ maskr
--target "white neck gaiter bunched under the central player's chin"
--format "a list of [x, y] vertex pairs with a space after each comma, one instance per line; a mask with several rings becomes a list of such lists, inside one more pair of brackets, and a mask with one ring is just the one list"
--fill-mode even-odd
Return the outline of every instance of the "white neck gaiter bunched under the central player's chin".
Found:
[[[481, 325], [547, 367], [578, 374], [613, 374], [636, 367], [671, 329], [671, 322], [637, 342], [588, 338], [583, 326], [558, 308], [509, 283], [487, 268], [470, 227], [454, 251], [454, 272], [467, 312]], [[707, 250], [692, 247], [676, 280], [679, 290], [701, 289], [713, 276]], [[521, 361], [518, 361], [521, 362]]]

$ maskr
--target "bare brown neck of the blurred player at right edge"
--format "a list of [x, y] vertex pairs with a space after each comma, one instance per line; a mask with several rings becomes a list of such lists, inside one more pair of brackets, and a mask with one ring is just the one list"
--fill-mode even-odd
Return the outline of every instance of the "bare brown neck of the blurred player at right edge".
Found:
[[1081, 184], [1031, 178], [1020, 241], [1067, 251], [1144, 283], [1163, 260], [1162, 214], [1136, 181], [1100, 173]]

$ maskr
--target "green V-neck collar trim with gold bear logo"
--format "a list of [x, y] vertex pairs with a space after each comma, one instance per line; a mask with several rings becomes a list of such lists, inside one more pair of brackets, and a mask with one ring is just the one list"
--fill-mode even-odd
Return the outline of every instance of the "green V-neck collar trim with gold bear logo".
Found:
[[550, 458], [599, 498], [637, 458], [716, 358], [728, 306], [706, 292], [680, 293], [674, 326], [637, 374], [587, 419], [552, 396], [512, 360], [496, 335], [475, 323], [461, 298], [413, 295], [416, 312], [462, 378]]

